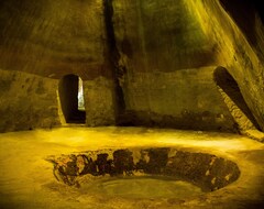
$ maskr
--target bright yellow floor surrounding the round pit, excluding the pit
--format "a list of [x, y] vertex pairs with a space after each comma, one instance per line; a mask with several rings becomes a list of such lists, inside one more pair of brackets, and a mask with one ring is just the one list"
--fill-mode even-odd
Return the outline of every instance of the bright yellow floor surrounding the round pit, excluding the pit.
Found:
[[[235, 162], [241, 169], [241, 176], [235, 183], [208, 194], [184, 198], [139, 199], [92, 194], [84, 188], [63, 185], [54, 178], [53, 165], [46, 161], [50, 155], [134, 146], [174, 146], [216, 154]], [[251, 209], [263, 208], [263, 202], [264, 144], [238, 134], [144, 128], [74, 127], [0, 134], [1, 209]]]

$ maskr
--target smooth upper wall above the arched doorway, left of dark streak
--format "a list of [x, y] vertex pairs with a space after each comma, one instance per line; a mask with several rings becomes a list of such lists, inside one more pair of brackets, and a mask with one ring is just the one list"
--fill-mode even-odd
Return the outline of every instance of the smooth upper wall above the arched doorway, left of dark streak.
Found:
[[1, 1], [0, 30], [2, 69], [58, 79], [109, 74], [101, 0]]

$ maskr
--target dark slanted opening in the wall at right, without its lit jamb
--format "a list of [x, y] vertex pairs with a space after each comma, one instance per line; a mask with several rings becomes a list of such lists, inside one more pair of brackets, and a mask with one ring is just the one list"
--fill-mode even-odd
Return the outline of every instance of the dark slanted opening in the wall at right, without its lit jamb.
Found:
[[260, 129], [256, 123], [250, 108], [244, 101], [244, 98], [240, 91], [238, 82], [223, 67], [218, 67], [213, 73], [213, 79], [217, 85], [232, 99], [238, 108], [246, 116], [246, 118], [254, 124], [256, 129]]

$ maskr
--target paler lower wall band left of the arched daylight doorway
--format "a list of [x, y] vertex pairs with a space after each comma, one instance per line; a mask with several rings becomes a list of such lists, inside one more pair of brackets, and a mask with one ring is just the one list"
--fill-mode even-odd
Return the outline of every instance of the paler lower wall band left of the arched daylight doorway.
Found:
[[0, 70], [0, 132], [59, 124], [57, 80]]

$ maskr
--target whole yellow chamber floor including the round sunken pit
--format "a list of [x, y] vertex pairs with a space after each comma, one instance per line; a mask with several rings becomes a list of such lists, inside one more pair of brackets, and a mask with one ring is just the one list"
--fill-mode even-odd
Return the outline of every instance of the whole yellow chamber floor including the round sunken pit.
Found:
[[263, 165], [262, 143], [229, 133], [2, 133], [0, 208], [263, 208]]

